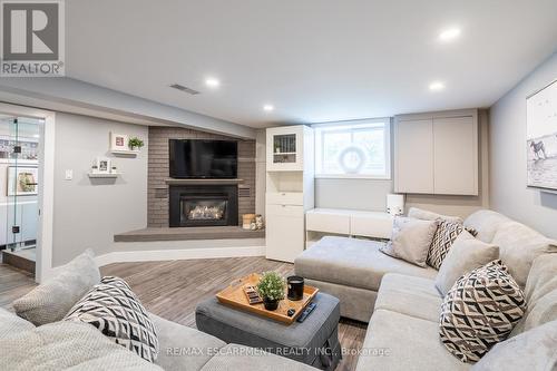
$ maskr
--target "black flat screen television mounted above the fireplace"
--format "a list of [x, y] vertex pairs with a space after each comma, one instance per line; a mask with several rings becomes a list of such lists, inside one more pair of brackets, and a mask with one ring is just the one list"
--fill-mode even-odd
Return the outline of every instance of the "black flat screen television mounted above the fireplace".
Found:
[[170, 139], [168, 146], [173, 178], [237, 178], [237, 141]]

